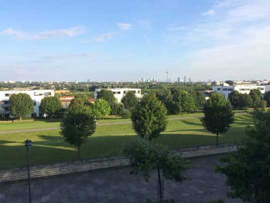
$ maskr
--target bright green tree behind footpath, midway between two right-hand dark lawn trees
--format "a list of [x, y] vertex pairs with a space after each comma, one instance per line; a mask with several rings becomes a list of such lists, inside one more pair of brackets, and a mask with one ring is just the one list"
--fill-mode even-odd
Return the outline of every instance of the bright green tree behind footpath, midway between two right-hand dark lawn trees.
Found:
[[195, 110], [195, 102], [191, 94], [180, 89], [174, 91], [173, 106], [173, 112], [175, 114], [190, 113]]

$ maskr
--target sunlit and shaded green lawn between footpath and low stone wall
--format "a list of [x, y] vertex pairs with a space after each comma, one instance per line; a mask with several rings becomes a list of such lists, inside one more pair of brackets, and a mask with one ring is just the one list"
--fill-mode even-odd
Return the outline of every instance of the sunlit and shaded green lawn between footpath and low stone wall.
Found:
[[[253, 123], [249, 115], [237, 115], [235, 120], [229, 132], [220, 135], [220, 143], [240, 140], [245, 133], [245, 126]], [[83, 159], [89, 159], [117, 155], [123, 141], [132, 135], [135, 134], [131, 124], [97, 126], [93, 136], [81, 147], [81, 156]], [[2, 134], [0, 135], [0, 169], [25, 165], [23, 141], [26, 139], [31, 139], [33, 142], [30, 151], [31, 165], [70, 161], [77, 158], [76, 148], [65, 143], [58, 130]], [[163, 142], [172, 148], [186, 148], [214, 144], [215, 135], [204, 130], [198, 118], [171, 120], [167, 130], [155, 142]]]

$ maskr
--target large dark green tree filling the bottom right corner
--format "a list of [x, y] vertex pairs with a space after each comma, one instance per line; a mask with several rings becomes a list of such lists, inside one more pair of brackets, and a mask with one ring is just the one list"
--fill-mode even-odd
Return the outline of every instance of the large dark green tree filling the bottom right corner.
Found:
[[231, 198], [244, 202], [270, 203], [270, 112], [258, 112], [254, 126], [248, 126], [246, 137], [237, 153], [223, 157], [216, 172], [227, 177]]

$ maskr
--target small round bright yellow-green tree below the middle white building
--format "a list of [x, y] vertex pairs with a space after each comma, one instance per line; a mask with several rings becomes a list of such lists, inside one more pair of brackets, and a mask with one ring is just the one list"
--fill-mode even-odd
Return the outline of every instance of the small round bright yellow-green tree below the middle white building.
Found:
[[110, 114], [110, 110], [111, 108], [109, 103], [104, 99], [97, 99], [92, 106], [92, 113], [96, 118], [99, 118], [99, 120], [101, 118], [104, 119], [104, 116], [108, 116]]

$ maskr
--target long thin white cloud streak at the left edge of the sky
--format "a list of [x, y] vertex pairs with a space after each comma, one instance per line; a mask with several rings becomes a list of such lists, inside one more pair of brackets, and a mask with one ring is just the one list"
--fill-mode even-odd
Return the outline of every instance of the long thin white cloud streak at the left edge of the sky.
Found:
[[7, 28], [0, 32], [0, 35], [9, 35], [13, 36], [15, 39], [22, 39], [22, 40], [39, 40], [39, 39], [51, 39], [54, 37], [74, 37], [79, 34], [85, 33], [86, 28], [85, 26], [78, 26], [78, 27], [70, 27], [68, 29], [56, 29], [56, 30], [48, 30], [42, 31], [38, 34], [30, 34], [23, 31], [14, 30], [13, 28]]

